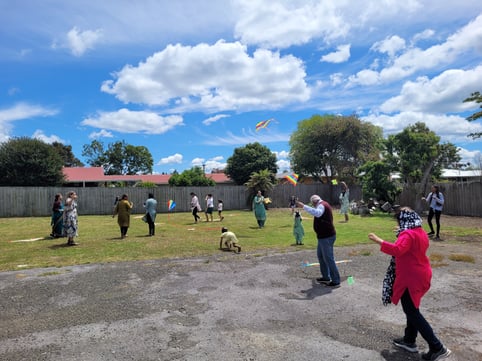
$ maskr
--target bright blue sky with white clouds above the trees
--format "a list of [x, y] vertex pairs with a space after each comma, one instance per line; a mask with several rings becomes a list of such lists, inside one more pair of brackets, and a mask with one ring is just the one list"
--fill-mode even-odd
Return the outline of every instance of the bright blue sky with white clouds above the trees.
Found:
[[209, 172], [257, 141], [282, 172], [300, 120], [356, 113], [385, 136], [425, 122], [480, 165], [474, 91], [480, 0], [0, 3], [0, 141], [59, 141], [84, 163], [84, 144], [125, 140], [154, 173]]

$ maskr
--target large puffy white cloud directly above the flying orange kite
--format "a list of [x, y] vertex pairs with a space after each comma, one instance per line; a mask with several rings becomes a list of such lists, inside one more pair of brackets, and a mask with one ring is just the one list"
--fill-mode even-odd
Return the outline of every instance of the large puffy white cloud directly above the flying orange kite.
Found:
[[125, 66], [102, 91], [123, 102], [171, 105], [176, 111], [278, 108], [309, 99], [303, 63], [294, 56], [218, 41], [169, 45], [138, 66]]

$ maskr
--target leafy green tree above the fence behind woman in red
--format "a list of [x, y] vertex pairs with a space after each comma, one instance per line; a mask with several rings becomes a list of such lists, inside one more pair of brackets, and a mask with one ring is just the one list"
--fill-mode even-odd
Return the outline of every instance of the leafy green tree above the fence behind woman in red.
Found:
[[440, 137], [425, 123], [415, 123], [390, 135], [385, 142], [386, 161], [398, 170], [402, 182], [422, 183], [440, 177], [442, 169], [460, 161], [458, 149], [452, 143], [440, 143]]

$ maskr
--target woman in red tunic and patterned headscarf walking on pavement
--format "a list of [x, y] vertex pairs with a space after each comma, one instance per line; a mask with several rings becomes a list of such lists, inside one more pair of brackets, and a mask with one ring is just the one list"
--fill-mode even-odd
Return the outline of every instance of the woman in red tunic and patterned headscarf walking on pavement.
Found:
[[440, 342], [419, 310], [422, 297], [430, 289], [432, 279], [432, 268], [426, 255], [429, 239], [422, 229], [422, 219], [412, 209], [401, 208], [396, 219], [399, 229], [395, 243], [386, 242], [374, 233], [368, 235], [369, 239], [380, 244], [382, 252], [395, 257], [392, 302], [398, 304], [401, 301], [407, 326], [404, 337], [393, 340], [393, 343], [409, 352], [418, 352], [415, 341], [420, 332], [429, 345], [429, 350], [422, 354], [422, 359], [441, 360], [448, 357], [451, 351]]

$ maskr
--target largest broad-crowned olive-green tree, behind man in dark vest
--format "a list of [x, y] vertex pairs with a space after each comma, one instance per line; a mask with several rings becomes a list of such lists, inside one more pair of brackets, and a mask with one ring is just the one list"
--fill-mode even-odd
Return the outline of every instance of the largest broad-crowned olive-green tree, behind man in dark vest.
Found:
[[382, 130], [357, 116], [314, 115], [298, 123], [290, 138], [296, 173], [354, 181], [356, 169], [378, 159]]

